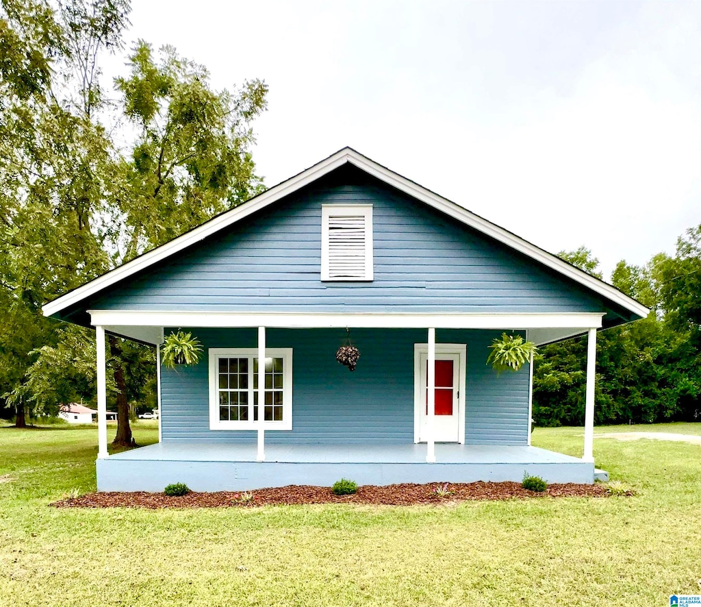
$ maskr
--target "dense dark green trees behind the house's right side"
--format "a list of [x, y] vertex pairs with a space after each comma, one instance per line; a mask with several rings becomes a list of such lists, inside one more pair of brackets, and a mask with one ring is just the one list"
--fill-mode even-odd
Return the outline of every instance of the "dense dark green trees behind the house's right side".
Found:
[[[701, 290], [699, 229], [679, 239], [674, 258], [659, 254], [644, 266], [621, 261], [611, 283], [651, 313], [646, 319], [600, 331], [597, 340], [597, 422], [697, 420], [701, 415], [698, 301]], [[562, 253], [597, 271], [590, 251]], [[584, 341], [543, 348], [533, 378], [533, 417], [541, 425], [583, 419]]]

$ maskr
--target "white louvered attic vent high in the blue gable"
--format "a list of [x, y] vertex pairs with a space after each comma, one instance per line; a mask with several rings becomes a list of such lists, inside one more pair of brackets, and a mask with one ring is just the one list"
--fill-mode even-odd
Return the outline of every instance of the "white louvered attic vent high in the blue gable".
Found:
[[372, 280], [372, 205], [323, 205], [321, 279]]

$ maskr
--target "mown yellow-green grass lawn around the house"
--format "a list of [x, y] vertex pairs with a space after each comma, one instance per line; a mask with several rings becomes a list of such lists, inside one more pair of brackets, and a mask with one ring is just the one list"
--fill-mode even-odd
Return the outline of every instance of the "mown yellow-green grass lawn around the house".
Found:
[[[135, 434], [155, 442], [157, 422]], [[582, 429], [539, 428], [533, 443], [580, 455]], [[95, 487], [96, 444], [94, 427], [0, 428], [0, 605], [648, 607], [701, 592], [697, 445], [594, 441], [633, 498], [47, 507]]]

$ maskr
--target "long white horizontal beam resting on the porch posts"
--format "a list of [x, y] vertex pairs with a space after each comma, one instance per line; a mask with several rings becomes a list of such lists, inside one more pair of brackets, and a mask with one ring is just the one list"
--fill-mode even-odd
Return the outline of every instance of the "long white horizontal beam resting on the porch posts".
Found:
[[91, 323], [114, 327], [273, 327], [273, 328], [601, 328], [604, 314], [393, 314], [303, 312], [132, 312], [88, 310]]

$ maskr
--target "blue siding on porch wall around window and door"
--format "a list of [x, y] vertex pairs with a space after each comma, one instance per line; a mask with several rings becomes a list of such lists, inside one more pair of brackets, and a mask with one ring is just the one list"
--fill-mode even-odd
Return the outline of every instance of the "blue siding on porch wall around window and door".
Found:
[[[166, 331], [169, 331], [166, 329]], [[163, 369], [163, 441], [253, 443], [254, 432], [209, 429], [210, 347], [256, 347], [254, 329], [194, 328], [205, 356], [196, 366]], [[291, 431], [266, 432], [270, 443], [412, 443], [414, 441], [414, 344], [426, 331], [353, 330], [361, 352], [351, 373], [335, 360], [345, 331], [268, 329], [268, 347], [293, 349]], [[525, 445], [529, 372], [497, 375], [486, 366], [487, 345], [498, 331], [437, 331], [437, 341], [467, 344], [465, 442]]]

